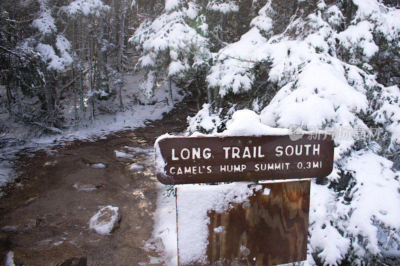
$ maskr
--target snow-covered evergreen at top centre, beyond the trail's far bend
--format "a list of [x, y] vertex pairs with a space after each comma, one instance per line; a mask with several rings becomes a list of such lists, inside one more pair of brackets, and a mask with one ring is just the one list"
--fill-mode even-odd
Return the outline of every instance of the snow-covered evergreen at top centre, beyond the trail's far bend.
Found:
[[201, 12], [195, 1], [167, 0], [164, 12], [153, 21], [143, 21], [129, 39], [143, 51], [137, 66], [147, 69], [140, 85], [147, 103], [152, 102], [157, 78], [166, 75], [170, 83], [171, 78], [207, 67], [210, 52]]

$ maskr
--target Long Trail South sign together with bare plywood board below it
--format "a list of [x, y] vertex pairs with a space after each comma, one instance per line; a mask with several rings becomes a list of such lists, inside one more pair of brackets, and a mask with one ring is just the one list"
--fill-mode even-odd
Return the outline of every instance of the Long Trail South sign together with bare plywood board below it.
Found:
[[[333, 168], [329, 135], [168, 137], [154, 147], [163, 184], [325, 177]], [[207, 263], [189, 265], [269, 266], [306, 259], [310, 181], [249, 186], [260, 185], [225, 213], [208, 210]], [[186, 265], [179, 260], [179, 193], [177, 188], [178, 265]]]

